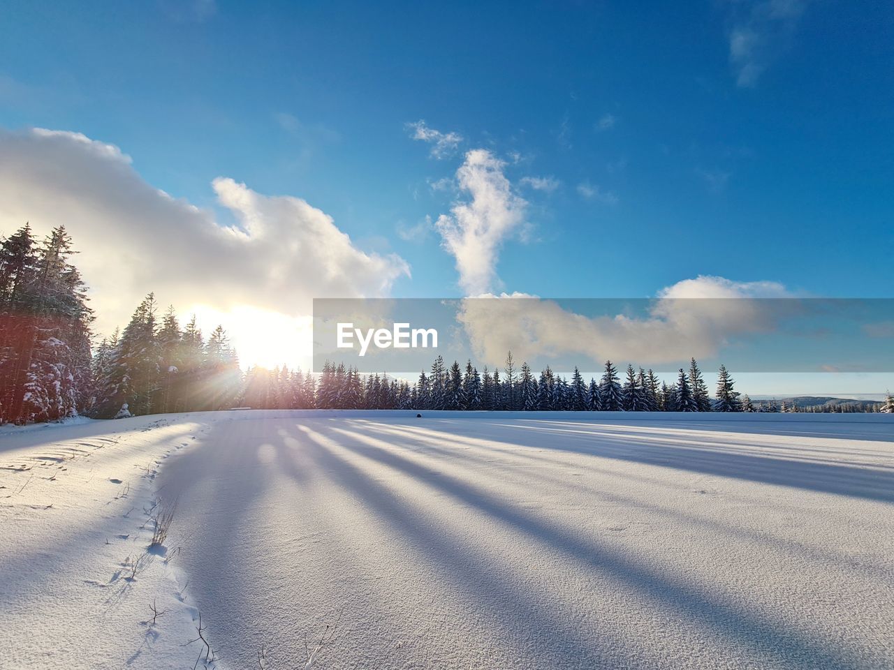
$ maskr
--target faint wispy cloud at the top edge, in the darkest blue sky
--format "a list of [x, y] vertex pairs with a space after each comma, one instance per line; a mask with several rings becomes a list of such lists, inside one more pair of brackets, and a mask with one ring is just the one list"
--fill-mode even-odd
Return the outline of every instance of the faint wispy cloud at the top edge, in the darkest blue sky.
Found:
[[730, 3], [730, 64], [740, 87], [752, 88], [797, 29], [811, 0]]

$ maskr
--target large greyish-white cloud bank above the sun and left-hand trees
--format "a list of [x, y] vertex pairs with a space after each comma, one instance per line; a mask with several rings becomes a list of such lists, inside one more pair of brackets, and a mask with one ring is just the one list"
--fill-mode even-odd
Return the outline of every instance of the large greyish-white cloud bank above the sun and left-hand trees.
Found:
[[66, 131], [0, 130], [0, 230], [65, 225], [99, 331], [125, 323], [150, 290], [181, 309], [254, 306], [298, 318], [311, 313], [313, 297], [383, 297], [409, 276], [400, 256], [359, 249], [299, 197], [264, 196], [227, 178], [212, 187], [238, 225], [153, 188], [113, 145]]

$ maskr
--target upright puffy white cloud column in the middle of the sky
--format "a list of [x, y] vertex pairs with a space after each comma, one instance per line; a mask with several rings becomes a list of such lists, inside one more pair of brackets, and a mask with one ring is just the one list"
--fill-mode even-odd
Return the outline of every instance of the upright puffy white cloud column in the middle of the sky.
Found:
[[469, 200], [451, 207], [435, 222], [443, 247], [456, 258], [460, 287], [468, 294], [492, 289], [496, 263], [505, 239], [524, 222], [527, 202], [513, 193], [503, 163], [486, 149], [473, 149], [456, 172]]

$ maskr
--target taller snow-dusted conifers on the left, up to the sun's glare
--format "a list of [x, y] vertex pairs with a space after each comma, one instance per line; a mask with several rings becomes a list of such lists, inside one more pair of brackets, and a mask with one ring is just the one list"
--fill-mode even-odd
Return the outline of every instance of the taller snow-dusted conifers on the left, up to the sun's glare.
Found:
[[63, 226], [0, 240], [0, 423], [226, 409], [244, 379], [223, 328], [203, 339], [149, 294], [95, 348], [93, 311]]

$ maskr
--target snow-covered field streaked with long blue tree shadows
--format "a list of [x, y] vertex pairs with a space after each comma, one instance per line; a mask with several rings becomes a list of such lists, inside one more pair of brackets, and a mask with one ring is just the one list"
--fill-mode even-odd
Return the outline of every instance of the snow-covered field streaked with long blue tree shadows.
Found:
[[0, 668], [894, 667], [894, 417], [424, 414], [0, 431]]

